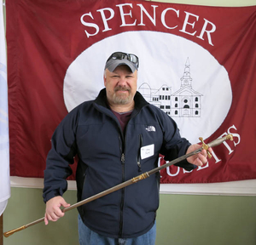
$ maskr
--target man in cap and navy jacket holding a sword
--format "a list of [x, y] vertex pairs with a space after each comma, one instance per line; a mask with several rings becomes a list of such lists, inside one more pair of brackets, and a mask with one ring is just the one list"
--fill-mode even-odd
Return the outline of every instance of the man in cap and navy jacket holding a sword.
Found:
[[[69, 206], [61, 196], [75, 155], [79, 202], [156, 168], [159, 154], [172, 160], [201, 147], [181, 138], [172, 118], [137, 92], [138, 66], [135, 54], [113, 53], [105, 66], [106, 88], [56, 128], [44, 171], [45, 225]], [[203, 150], [177, 166], [192, 170], [206, 162]], [[154, 244], [159, 185], [160, 174], [153, 174], [80, 206], [80, 244]]]

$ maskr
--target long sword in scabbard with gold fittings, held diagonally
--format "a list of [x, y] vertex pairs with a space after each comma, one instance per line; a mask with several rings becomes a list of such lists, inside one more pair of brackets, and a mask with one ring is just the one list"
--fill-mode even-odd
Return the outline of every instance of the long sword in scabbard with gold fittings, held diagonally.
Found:
[[[195, 154], [201, 152], [202, 150], [206, 150], [206, 151], [207, 151], [207, 154], [208, 154], [208, 157], [211, 158], [212, 155], [211, 155], [211, 153], [208, 151], [208, 149], [209, 149], [210, 147], [214, 147], [214, 146], [217, 146], [217, 145], [222, 144], [225, 140], [233, 140], [233, 135], [232, 135], [232, 134], [228, 134], [228, 135], [224, 136], [223, 138], [219, 138], [219, 139], [217, 139], [217, 140], [213, 140], [212, 142], [210, 142], [210, 143], [208, 143], [208, 144], [205, 144], [204, 140], [203, 140], [201, 137], [199, 138], [199, 140], [201, 140], [201, 143], [202, 143], [201, 148], [199, 148], [199, 149], [197, 149], [197, 150], [195, 150], [195, 151], [192, 151], [192, 152], [190, 152], [189, 154], [183, 155], [182, 157], [178, 157], [178, 158], [172, 160], [171, 162], [168, 162], [168, 163], [166, 163], [166, 164], [164, 164], [164, 165], [162, 165], [162, 166], [160, 166], [160, 167], [158, 167], [158, 168], [154, 168], [154, 169], [152, 169], [152, 170], [150, 170], [150, 171], [148, 171], [148, 172], [145, 172], [144, 174], [140, 174], [140, 175], [138, 175], [137, 177], [134, 177], [134, 178], [132, 178], [132, 179], [126, 180], [125, 182], [123, 182], [123, 183], [121, 183], [121, 184], [119, 184], [119, 185], [115, 185], [115, 186], [109, 188], [109, 189], [106, 190], [106, 191], [102, 191], [102, 192], [100, 192], [100, 193], [98, 193], [98, 194], [96, 194], [96, 195], [94, 195], [94, 196], [92, 196], [92, 197], [88, 197], [88, 198], [86, 198], [86, 199], [84, 199], [84, 200], [82, 200], [82, 201], [80, 201], [80, 202], [74, 203], [73, 205], [71, 205], [71, 206], [69, 206], [69, 207], [67, 207], [67, 208], [63, 208], [61, 211], [62, 211], [63, 213], [66, 213], [67, 211], [72, 210], [73, 208], [78, 208], [79, 206], [82, 206], [82, 205], [84, 205], [85, 203], [92, 202], [92, 201], [94, 201], [94, 200], [96, 200], [96, 199], [98, 199], [98, 198], [100, 198], [100, 197], [104, 197], [104, 196], [106, 196], [106, 195], [112, 193], [113, 191], [118, 191], [118, 190], [120, 190], [120, 189], [125, 188], [125, 187], [128, 186], [128, 185], [132, 185], [132, 184], [134, 184], [134, 183], [137, 183], [138, 181], [140, 181], [140, 180], [142, 180], [142, 179], [146, 179], [146, 178], [148, 178], [150, 175], [159, 172], [159, 171], [160, 171], [161, 169], [163, 169], [163, 168], [167, 168], [167, 167], [169, 167], [169, 166], [171, 166], [171, 165], [173, 165], [173, 164], [175, 164], [175, 163], [177, 163], [177, 162], [181, 162], [181, 161], [187, 159], [188, 157], [194, 156]], [[29, 223], [29, 224], [22, 225], [22, 226], [20, 226], [19, 228], [16, 228], [16, 229], [14, 229], [14, 230], [4, 232], [4, 233], [3, 233], [3, 236], [5, 236], [5, 237], [11, 236], [11, 235], [13, 235], [15, 232], [17, 232], [17, 231], [22, 231], [22, 230], [24, 230], [24, 229], [26, 229], [26, 228], [28, 228], [28, 227], [30, 227], [30, 226], [32, 226], [32, 225], [37, 225], [38, 223], [41, 223], [41, 222], [43, 222], [43, 221], [44, 221], [44, 217], [41, 218], [41, 219], [37, 219], [37, 220], [35, 220], [35, 221], [32, 221], [32, 222]]]

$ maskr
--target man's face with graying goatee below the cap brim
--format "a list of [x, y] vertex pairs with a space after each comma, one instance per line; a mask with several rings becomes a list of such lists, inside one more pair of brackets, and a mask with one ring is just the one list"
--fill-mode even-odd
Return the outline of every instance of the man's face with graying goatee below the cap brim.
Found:
[[110, 105], [132, 104], [137, 91], [137, 71], [132, 73], [128, 66], [117, 66], [113, 72], [106, 69], [104, 85]]

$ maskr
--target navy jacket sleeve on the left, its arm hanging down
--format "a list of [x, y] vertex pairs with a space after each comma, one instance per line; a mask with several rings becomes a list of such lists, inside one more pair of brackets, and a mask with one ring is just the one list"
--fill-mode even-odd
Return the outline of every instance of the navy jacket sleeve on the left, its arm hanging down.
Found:
[[76, 128], [78, 116], [75, 111], [67, 114], [51, 139], [51, 149], [46, 158], [44, 170], [44, 202], [52, 197], [62, 196], [67, 191], [67, 177], [72, 174], [69, 164], [77, 153]]

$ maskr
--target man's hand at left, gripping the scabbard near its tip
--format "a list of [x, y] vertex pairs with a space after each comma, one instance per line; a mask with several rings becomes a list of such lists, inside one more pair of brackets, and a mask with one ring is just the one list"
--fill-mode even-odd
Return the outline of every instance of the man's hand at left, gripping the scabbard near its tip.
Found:
[[64, 213], [61, 211], [61, 206], [67, 208], [70, 206], [63, 197], [53, 197], [46, 202], [45, 214], [44, 214], [44, 224], [48, 225], [48, 221], [57, 221], [64, 216]]

